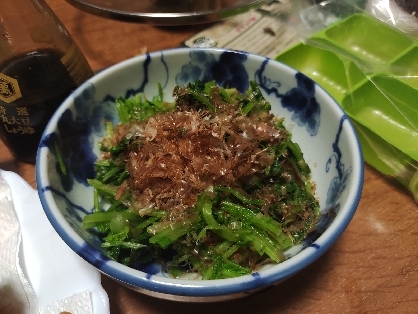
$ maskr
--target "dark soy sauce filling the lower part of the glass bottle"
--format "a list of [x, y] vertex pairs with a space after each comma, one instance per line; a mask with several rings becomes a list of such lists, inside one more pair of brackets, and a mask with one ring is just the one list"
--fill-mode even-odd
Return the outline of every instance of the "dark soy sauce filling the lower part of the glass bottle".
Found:
[[[0, 64], [0, 96], [11, 92], [7, 77], [18, 82], [21, 97], [0, 97], [0, 136], [14, 156], [34, 163], [42, 133], [58, 106], [77, 87], [61, 62], [62, 54], [39, 50]], [[13, 92], [13, 91], [12, 91]], [[5, 94], [3, 94], [5, 95]]]

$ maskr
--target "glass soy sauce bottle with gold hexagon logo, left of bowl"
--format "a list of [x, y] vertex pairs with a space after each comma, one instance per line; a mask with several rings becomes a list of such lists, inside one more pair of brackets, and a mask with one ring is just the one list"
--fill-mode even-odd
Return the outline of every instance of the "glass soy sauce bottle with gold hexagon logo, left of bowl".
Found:
[[0, 138], [18, 160], [35, 162], [51, 116], [92, 75], [43, 0], [0, 0]]

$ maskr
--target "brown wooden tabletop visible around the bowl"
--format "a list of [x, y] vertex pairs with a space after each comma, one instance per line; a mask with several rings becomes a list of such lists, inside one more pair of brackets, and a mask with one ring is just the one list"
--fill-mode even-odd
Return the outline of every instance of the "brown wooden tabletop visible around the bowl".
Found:
[[[155, 27], [108, 20], [46, 0], [93, 70], [126, 58], [177, 47], [204, 26]], [[34, 165], [0, 144], [0, 168], [36, 186]], [[177, 303], [129, 290], [102, 276], [112, 314], [131, 313], [418, 313], [418, 206], [408, 192], [366, 166], [358, 210], [340, 239], [312, 265], [247, 299]]]

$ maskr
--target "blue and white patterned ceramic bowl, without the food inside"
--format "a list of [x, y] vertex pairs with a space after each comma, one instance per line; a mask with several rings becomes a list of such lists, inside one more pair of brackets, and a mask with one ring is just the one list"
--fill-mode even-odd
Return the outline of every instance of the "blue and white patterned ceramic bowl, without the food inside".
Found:
[[[151, 98], [162, 84], [166, 99], [176, 84], [216, 80], [247, 89], [258, 82], [275, 114], [299, 143], [311, 167], [321, 218], [303, 245], [281, 264], [233, 279], [173, 279], [157, 265], [139, 271], [103, 254], [101, 241], [83, 229], [93, 209], [93, 189], [103, 120], [118, 123], [114, 100], [144, 93]], [[60, 174], [55, 145], [67, 174]], [[219, 301], [246, 296], [277, 284], [318, 259], [338, 239], [356, 211], [363, 186], [363, 159], [355, 131], [339, 105], [315, 82], [277, 61], [223, 49], [174, 49], [138, 56], [114, 65], [80, 86], [60, 106], [42, 137], [36, 163], [41, 203], [52, 226], [74, 252], [102, 273], [149, 295], [180, 301]]]

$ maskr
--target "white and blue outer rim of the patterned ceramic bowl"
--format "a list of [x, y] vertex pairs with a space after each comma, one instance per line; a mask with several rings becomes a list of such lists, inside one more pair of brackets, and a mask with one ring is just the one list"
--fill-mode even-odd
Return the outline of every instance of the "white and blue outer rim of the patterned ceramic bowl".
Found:
[[[145, 58], [159, 57], [164, 54], [164, 57], [169, 55], [189, 53], [191, 48], [174, 48], [161, 51], [155, 51], [147, 53], [145, 55], [139, 55], [130, 59], [121, 61], [110, 66], [107, 69], [94, 75], [86, 83], [96, 83], [106, 77], [109, 73], [115, 70], [128, 67], [131, 64], [136, 64], [145, 60]], [[276, 64], [280, 70], [290, 71], [297, 73], [298, 71], [294, 68], [274, 59], [260, 56], [253, 53], [244, 51], [237, 51], [224, 48], [193, 48], [193, 50], [204, 50], [204, 51], [216, 51], [218, 53], [224, 51], [230, 51], [234, 53], [245, 54], [252, 58], [255, 58], [257, 62], [268, 59], [268, 62]], [[259, 60], [259, 61], [258, 61]], [[74, 102], [73, 96], [75, 93], [79, 93], [85, 84], [79, 86], [67, 99], [61, 104], [58, 110], [55, 112], [50, 122], [48, 123], [45, 132], [42, 136], [46, 136], [54, 130], [53, 125], [56, 124], [57, 119], [61, 116], [63, 111], [72, 105]], [[316, 93], [321, 94], [321, 98], [328, 98], [330, 101], [327, 102], [332, 110], [336, 111], [339, 116], [345, 116], [344, 110], [341, 106], [332, 98], [332, 96], [324, 90], [320, 85], [316, 84]], [[364, 160], [362, 156], [362, 150], [359, 139], [357, 137], [354, 126], [346, 119], [344, 123], [347, 123], [345, 132], [349, 135], [349, 141], [353, 144], [355, 149], [350, 153], [353, 156], [353, 175], [350, 181], [349, 195], [347, 195], [347, 202], [341, 206], [338, 215], [334, 221], [325, 230], [325, 232], [316, 240], [314, 243], [304, 250], [292, 256], [290, 259], [274, 265], [268, 269], [261, 270], [249, 275], [230, 278], [230, 279], [217, 279], [217, 280], [187, 280], [187, 279], [174, 279], [167, 277], [160, 277], [156, 275], [149, 275], [142, 271], [130, 268], [122, 265], [115, 261], [107, 261], [104, 264], [99, 265], [95, 258], [95, 249], [87, 244], [69, 225], [65, 220], [64, 216], [60, 213], [57, 205], [55, 204], [52, 196], [52, 191], [45, 189], [49, 187], [50, 182], [48, 179], [47, 171], [47, 149], [39, 148], [36, 159], [36, 182], [37, 190], [40, 197], [40, 201], [44, 212], [49, 219], [50, 223], [70, 248], [80, 255], [84, 260], [95, 266], [102, 273], [117, 279], [125, 285], [151, 292], [178, 295], [178, 296], [189, 296], [189, 297], [213, 297], [221, 295], [231, 295], [238, 293], [247, 293], [252, 290], [258, 290], [260, 288], [267, 287], [274, 283], [277, 283], [296, 272], [307, 267], [321, 255], [323, 255], [332, 244], [340, 237], [343, 231], [347, 228], [349, 222], [354, 216], [357, 210], [358, 203], [361, 198], [363, 183], [364, 183]], [[97, 253], [96, 253], [97, 256]]]

